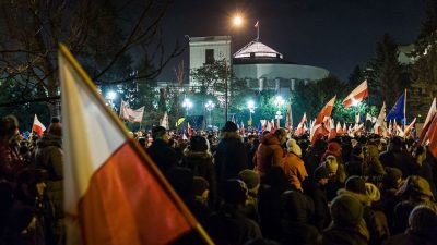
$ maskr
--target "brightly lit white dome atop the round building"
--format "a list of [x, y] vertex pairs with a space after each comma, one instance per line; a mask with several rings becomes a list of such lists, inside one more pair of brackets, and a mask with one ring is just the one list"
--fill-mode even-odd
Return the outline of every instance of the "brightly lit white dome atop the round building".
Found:
[[262, 44], [259, 40], [252, 40], [234, 53], [235, 59], [283, 59], [282, 53]]

